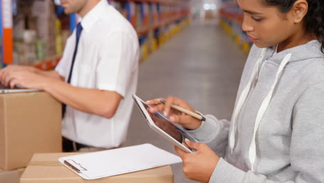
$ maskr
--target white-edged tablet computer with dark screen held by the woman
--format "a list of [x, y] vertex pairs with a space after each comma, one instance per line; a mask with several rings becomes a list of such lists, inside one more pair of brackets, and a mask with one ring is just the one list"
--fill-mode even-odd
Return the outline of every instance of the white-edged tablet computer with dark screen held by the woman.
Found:
[[186, 132], [181, 130], [180, 126], [176, 126], [174, 123], [171, 123], [168, 118], [160, 112], [151, 114], [147, 111], [150, 106], [146, 105], [146, 103], [136, 95], [133, 95], [133, 98], [138, 109], [145, 117], [148, 125], [150, 125], [150, 128], [161, 134], [165, 139], [173, 143], [175, 146], [178, 146], [183, 151], [192, 153], [192, 150], [182, 144], [184, 141], [183, 134], [186, 134]]

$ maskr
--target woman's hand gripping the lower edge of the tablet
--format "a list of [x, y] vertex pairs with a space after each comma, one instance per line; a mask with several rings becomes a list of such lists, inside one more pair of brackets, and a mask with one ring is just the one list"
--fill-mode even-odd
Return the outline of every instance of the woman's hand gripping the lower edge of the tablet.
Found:
[[183, 173], [190, 180], [209, 182], [219, 157], [205, 143], [195, 143], [188, 139], [185, 142], [190, 149], [197, 151], [186, 153], [181, 148], [174, 146], [183, 161]]

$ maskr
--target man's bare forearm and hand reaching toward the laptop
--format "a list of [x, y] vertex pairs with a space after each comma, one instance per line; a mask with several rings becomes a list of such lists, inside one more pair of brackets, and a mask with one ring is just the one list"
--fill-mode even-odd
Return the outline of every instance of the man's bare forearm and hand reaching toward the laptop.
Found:
[[[51, 76], [57, 76], [51, 73]], [[57, 78], [45, 77], [29, 71], [10, 73], [10, 86], [21, 85], [25, 88], [48, 92], [58, 101], [76, 110], [111, 118], [116, 113], [122, 96], [117, 92], [100, 89], [73, 87]]]

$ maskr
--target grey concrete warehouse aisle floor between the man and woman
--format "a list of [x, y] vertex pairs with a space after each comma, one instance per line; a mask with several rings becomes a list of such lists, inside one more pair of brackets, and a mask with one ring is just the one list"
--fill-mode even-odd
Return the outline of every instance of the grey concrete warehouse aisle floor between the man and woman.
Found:
[[[194, 22], [141, 64], [137, 94], [143, 100], [177, 96], [199, 112], [230, 119], [245, 59], [218, 24]], [[141, 143], [175, 153], [134, 106], [125, 146]], [[192, 182], [181, 164], [172, 171], [174, 182]]]

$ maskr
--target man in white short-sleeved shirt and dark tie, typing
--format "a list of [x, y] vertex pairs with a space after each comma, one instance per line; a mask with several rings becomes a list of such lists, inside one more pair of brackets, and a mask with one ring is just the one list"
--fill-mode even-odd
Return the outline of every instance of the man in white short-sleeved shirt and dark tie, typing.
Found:
[[55, 71], [10, 66], [3, 85], [39, 89], [63, 107], [64, 150], [116, 148], [125, 140], [138, 78], [138, 37], [107, 0], [61, 0], [79, 24]]

